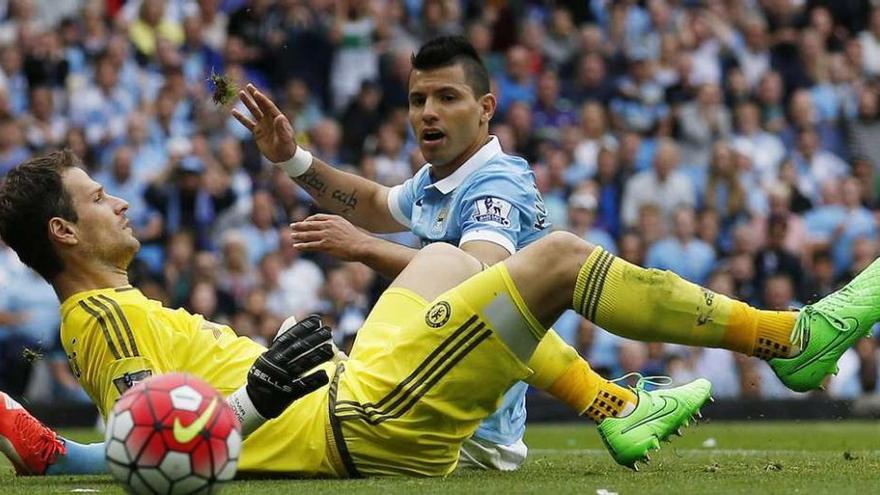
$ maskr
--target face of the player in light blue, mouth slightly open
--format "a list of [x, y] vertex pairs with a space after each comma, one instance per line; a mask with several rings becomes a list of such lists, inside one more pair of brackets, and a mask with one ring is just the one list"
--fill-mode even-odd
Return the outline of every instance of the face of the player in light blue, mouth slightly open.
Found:
[[460, 64], [410, 74], [410, 124], [434, 166], [457, 167], [480, 149], [494, 112], [495, 97], [476, 97]]

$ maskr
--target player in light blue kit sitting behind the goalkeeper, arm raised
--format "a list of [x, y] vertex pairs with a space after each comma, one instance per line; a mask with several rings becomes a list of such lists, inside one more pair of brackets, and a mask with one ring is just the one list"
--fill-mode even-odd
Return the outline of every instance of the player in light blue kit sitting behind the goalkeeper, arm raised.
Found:
[[[274, 104], [252, 86], [240, 96], [250, 99], [248, 108], [256, 110], [256, 122], [274, 112], [267, 106]], [[422, 245], [450, 243], [487, 266], [549, 231], [529, 164], [504, 153], [498, 139], [489, 135], [495, 103], [488, 73], [464, 38], [426, 43], [413, 57], [409, 116], [429, 163], [392, 188], [313, 159], [295, 145], [283, 115], [264, 127], [253, 125], [237, 110], [233, 115], [252, 130], [264, 156], [284, 168], [322, 208], [336, 214], [292, 224], [294, 246], [360, 261], [393, 279], [417, 250], [369, 236], [352, 224], [372, 233], [408, 228]], [[298, 156], [291, 158], [294, 152]], [[510, 470], [525, 460], [526, 389], [525, 383], [510, 389], [501, 408], [463, 447], [463, 465]]]

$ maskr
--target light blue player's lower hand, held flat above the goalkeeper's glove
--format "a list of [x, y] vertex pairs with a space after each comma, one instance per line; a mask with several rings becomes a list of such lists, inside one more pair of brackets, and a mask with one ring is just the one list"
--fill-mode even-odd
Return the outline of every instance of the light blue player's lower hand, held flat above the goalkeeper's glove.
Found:
[[372, 237], [338, 215], [319, 213], [290, 224], [290, 240], [300, 251], [327, 253], [343, 261], [361, 261]]

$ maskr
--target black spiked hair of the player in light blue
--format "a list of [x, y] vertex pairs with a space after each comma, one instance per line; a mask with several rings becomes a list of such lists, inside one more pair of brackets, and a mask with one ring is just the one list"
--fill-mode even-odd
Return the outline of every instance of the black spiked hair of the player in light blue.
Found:
[[464, 36], [441, 36], [422, 45], [412, 56], [414, 70], [433, 70], [461, 65], [474, 96], [489, 92], [489, 71], [477, 50]]

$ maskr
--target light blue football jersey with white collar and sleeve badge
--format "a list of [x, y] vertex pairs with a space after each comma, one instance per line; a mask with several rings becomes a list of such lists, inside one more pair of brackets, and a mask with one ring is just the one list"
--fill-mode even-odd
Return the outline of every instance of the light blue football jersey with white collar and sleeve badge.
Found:
[[[483, 240], [513, 254], [550, 231], [528, 162], [504, 153], [494, 136], [445, 179], [434, 181], [431, 165], [425, 165], [391, 189], [388, 206], [395, 220], [409, 227], [423, 246]], [[520, 440], [526, 428], [527, 389], [523, 382], [514, 385], [474, 436], [501, 445]]]

